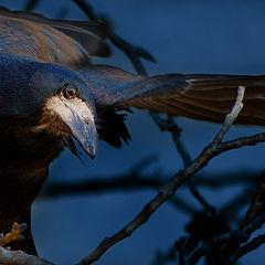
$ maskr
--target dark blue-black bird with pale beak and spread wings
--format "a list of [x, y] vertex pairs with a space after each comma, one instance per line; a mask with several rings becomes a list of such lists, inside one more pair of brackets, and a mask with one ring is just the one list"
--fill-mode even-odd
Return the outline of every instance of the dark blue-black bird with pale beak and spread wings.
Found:
[[221, 74], [136, 75], [106, 57], [107, 28], [89, 21], [53, 20], [0, 9], [0, 232], [26, 223], [13, 250], [36, 254], [31, 205], [49, 166], [76, 142], [95, 158], [97, 141], [114, 147], [131, 139], [131, 107], [222, 123], [239, 86], [245, 86], [241, 125], [265, 125], [265, 76]]

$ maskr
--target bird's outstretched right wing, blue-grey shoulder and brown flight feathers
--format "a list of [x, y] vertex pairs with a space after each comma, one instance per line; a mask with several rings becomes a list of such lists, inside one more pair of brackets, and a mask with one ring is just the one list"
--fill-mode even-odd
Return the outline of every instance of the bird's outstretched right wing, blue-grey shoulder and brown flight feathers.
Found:
[[88, 70], [81, 73], [88, 81], [99, 107], [132, 106], [223, 123], [237, 87], [245, 86], [244, 108], [237, 124], [265, 125], [265, 76], [167, 74], [142, 77], [108, 66]]

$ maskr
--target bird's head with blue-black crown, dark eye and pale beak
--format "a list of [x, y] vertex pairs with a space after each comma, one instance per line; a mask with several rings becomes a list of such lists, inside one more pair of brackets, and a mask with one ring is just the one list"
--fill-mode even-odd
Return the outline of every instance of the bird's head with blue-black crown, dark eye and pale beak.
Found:
[[38, 65], [29, 87], [41, 107], [36, 130], [74, 137], [92, 158], [96, 155], [96, 108], [93, 94], [73, 71], [53, 64]]

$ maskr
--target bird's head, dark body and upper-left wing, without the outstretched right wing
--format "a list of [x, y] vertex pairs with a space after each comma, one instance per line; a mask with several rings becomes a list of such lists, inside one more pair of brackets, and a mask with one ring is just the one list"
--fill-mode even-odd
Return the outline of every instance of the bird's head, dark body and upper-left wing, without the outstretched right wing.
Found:
[[[96, 106], [93, 94], [73, 68], [89, 64], [92, 54], [107, 55], [108, 49], [102, 40], [102, 25], [78, 24], [0, 11], [0, 231], [3, 233], [13, 222], [26, 222], [30, 226], [31, 204], [47, 176], [49, 165], [65, 146], [78, 156], [71, 137], [95, 157]], [[78, 41], [80, 35], [83, 42]], [[35, 253], [30, 227], [25, 237], [11, 246]]]

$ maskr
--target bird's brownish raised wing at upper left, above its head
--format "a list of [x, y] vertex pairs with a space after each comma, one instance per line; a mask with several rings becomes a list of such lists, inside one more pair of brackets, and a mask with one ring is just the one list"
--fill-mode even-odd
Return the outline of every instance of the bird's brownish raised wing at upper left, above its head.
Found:
[[40, 14], [0, 9], [0, 52], [28, 55], [44, 63], [76, 67], [89, 56], [107, 56], [104, 24], [50, 20]]

